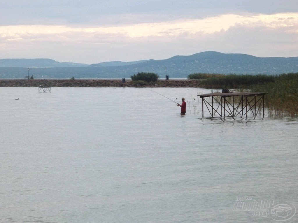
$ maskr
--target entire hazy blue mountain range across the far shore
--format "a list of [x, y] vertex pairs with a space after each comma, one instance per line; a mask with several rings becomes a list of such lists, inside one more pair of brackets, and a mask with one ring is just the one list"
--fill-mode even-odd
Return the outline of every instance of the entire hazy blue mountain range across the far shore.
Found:
[[[29, 69], [28, 69], [29, 68]], [[297, 73], [298, 57], [256, 57], [205, 51], [190, 56], [97, 64], [57, 62], [52, 59], [0, 59], [0, 78], [130, 78], [138, 72], [164, 78], [186, 78], [191, 73], [268, 74]]]

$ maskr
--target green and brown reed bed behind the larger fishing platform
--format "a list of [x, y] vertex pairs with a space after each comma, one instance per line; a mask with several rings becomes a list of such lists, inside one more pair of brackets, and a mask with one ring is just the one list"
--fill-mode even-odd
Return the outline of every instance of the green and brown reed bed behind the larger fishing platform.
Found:
[[234, 92], [265, 92], [265, 107], [271, 117], [298, 115], [298, 73], [280, 75], [222, 75], [195, 73], [188, 79], [200, 79], [207, 89], [232, 89]]

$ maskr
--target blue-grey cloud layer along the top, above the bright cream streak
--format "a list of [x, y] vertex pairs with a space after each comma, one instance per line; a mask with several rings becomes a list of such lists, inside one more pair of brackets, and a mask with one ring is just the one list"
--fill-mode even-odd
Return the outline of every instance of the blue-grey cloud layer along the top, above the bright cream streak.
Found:
[[0, 25], [103, 26], [297, 11], [297, 0], [14, 0], [1, 2]]

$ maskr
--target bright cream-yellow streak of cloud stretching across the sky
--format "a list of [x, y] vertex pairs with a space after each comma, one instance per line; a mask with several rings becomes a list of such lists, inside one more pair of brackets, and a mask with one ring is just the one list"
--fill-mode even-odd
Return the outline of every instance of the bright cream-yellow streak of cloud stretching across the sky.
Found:
[[205, 34], [228, 30], [230, 27], [258, 27], [260, 24], [268, 29], [288, 27], [288, 31], [297, 32], [295, 26], [298, 23], [298, 14], [274, 14], [274, 15], [219, 15], [205, 19], [173, 20], [160, 23], [138, 23], [112, 26], [0, 26], [1, 37], [16, 38], [22, 35], [69, 35], [74, 33], [94, 34], [123, 34], [127, 37], [171, 36], [181, 33], [193, 34], [202, 32]]

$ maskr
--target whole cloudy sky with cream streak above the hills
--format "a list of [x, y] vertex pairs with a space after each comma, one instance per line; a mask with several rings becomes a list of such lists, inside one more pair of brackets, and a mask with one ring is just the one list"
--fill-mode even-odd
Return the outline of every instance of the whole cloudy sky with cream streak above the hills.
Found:
[[298, 56], [297, 0], [1, 0], [0, 59]]

